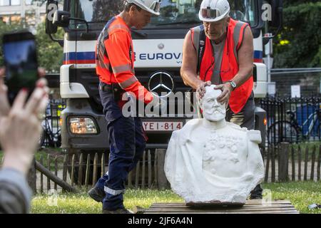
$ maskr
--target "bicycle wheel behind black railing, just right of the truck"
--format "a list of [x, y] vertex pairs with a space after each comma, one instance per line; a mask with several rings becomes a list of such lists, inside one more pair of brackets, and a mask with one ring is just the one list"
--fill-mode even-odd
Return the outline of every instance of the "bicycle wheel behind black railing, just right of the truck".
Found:
[[299, 130], [288, 121], [277, 121], [267, 129], [269, 143], [299, 142]]

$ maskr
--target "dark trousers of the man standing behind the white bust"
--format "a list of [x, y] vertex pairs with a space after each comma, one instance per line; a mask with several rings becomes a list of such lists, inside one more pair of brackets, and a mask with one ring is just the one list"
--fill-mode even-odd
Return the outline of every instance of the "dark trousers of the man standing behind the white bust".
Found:
[[[239, 113], [233, 113], [230, 110], [230, 106], [226, 110], [226, 121], [240, 125], [241, 128], [248, 128], [248, 130], [254, 130], [255, 127], [255, 103], [253, 91], [245, 103], [245, 106]], [[250, 199], [262, 199], [263, 189], [260, 185], [257, 185], [251, 192]]]

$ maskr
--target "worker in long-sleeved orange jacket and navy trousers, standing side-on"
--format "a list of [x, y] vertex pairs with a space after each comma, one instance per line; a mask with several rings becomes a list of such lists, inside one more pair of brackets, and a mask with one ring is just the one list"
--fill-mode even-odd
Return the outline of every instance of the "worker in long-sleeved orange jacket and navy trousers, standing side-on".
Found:
[[[131, 213], [123, 206], [123, 193], [128, 172], [141, 159], [146, 147], [146, 134], [141, 118], [122, 113], [123, 93], [148, 104], [155, 100], [135, 76], [131, 27], [141, 29], [158, 16], [161, 0], [126, 0], [124, 10], [113, 17], [101, 31], [96, 45], [96, 73], [99, 94], [107, 120], [110, 144], [108, 172], [88, 194], [103, 202], [103, 213]], [[127, 102], [127, 100], [125, 100]]]

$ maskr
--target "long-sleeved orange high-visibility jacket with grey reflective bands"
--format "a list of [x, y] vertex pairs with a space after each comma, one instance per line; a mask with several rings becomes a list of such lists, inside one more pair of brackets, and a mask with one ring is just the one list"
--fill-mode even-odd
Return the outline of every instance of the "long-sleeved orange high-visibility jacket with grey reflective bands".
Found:
[[103, 28], [96, 43], [96, 74], [103, 83], [118, 83], [139, 100], [150, 103], [153, 95], [136, 78], [134, 58], [131, 28], [121, 16], [115, 16]]

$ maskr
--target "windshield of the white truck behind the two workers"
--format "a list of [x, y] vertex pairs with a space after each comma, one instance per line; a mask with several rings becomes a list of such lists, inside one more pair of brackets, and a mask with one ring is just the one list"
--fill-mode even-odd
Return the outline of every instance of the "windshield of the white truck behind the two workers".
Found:
[[[230, 0], [230, 16], [233, 19], [257, 24], [255, 9], [258, 0]], [[198, 11], [202, 0], [163, 0], [161, 16], [153, 16], [148, 26], [169, 26], [180, 24], [198, 24]], [[115, 0], [71, 0], [71, 16], [86, 19], [91, 29], [101, 28], [112, 16], [123, 10], [123, 1]], [[71, 28], [84, 28], [84, 24], [71, 21]]]

